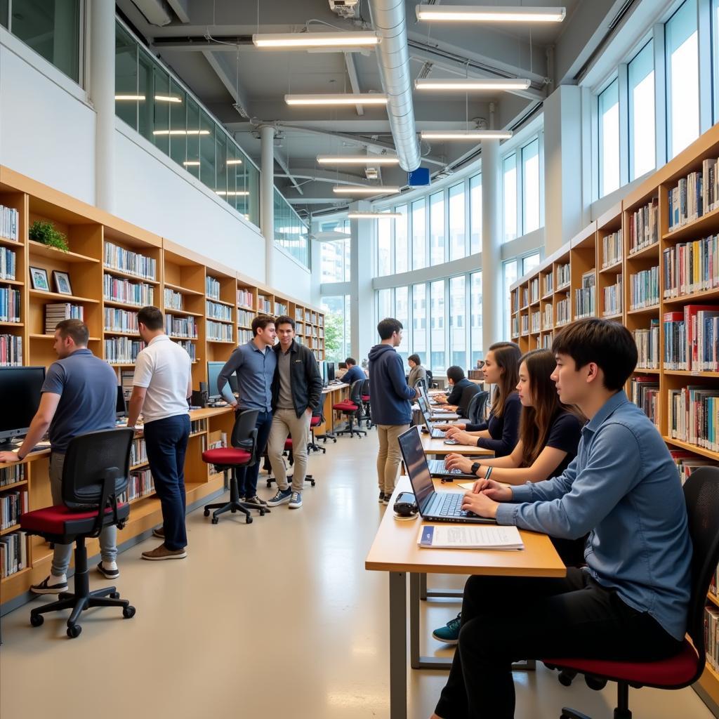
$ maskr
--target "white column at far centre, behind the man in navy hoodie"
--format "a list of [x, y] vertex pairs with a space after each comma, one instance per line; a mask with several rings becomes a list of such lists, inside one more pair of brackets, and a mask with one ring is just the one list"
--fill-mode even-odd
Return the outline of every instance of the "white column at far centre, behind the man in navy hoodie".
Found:
[[[367, 212], [370, 203], [356, 202], [349, 207], [352, 211]], [[349, 324], [352, 335], [352, 357], [361, 361], [367, 357], [372, 345], [379, 342], [375, 313], [372, 311], [375, 293], [372, 290], [372, 226], [374, 220], [350, 220], [352, 233], [349, 240]]]

